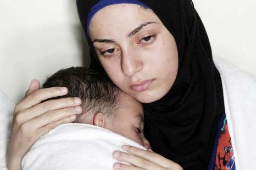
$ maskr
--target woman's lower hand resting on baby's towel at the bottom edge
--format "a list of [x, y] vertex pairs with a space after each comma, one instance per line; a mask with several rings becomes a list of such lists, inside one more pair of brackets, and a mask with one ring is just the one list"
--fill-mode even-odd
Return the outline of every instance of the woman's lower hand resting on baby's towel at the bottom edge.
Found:
[[113, 157], [118, 161], [127, 162], [131, 165], [115, 163], [113, 166], [115, 170], [182, 170], [181, 166], [177, 163], [153, 151], [127, 145], [124, 145], [123, 149], [128, 153], [114, 151]]

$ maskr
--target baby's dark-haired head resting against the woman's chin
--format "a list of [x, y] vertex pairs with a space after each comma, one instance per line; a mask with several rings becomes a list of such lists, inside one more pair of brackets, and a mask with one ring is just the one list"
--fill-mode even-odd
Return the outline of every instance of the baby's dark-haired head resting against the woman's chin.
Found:
[[106, 74], [83, 67], [61, 69], [43, 84], [43, 88], [54, 86], [69, 90], [55, 98], [81, 98], [83, 112], [75, 122], [107, 128], [150, 148], [143, 135], [142, 104], [116, 87]]

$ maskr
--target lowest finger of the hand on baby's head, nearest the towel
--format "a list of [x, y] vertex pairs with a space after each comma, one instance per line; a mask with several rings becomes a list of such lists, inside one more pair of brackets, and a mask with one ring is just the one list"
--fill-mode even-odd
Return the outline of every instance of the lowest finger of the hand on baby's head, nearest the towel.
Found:
[[74, 122], [76, 120], [76, 116], [75, 115], [71, 115], [67, 118], [52, 122], [51, 124], [48, 124], [42, 128], [40, 128], [39, 134], [40, 136], [43, 136], [43, 134], [48, 133], [49, 131], [51, 131], [53, 128], [62, 125], [62, 124], [68, 124], [71, 122]]

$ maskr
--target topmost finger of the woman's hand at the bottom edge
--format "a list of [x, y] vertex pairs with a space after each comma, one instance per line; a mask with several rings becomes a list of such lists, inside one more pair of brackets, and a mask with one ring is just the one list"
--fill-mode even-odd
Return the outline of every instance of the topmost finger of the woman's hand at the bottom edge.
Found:
[[162, 155], [159, 155], [152, 151], [147, 151], [147, 150], [143, 150], [143, 149], [136, 148], [133, 146], [128, 146], [128, 145], [124, 145], [122, 148], [132, 155], [142, 157], [143, 159], [157, 163], [158, 165], [160, 165], [162, 167], [170, 167], [172, 164], [176, 164], [175, 162], [173, 162], [169, 159], [166, 159]]

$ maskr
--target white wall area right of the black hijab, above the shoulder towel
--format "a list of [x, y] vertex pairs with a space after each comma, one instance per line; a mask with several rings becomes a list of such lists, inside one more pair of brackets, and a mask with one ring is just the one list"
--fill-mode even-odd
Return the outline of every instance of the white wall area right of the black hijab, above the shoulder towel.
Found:
[[194, 0], [214, 56], [256, 75], [256, 1]]

